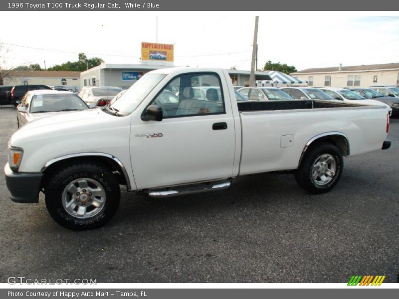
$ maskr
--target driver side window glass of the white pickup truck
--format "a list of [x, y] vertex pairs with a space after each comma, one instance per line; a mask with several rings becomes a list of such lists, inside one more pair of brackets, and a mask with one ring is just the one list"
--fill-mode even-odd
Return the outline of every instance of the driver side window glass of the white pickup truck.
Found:
[[152, 101], [163, 118], [224, 114], [220, 78], [213, 73], [184, 74], [173, 79]]

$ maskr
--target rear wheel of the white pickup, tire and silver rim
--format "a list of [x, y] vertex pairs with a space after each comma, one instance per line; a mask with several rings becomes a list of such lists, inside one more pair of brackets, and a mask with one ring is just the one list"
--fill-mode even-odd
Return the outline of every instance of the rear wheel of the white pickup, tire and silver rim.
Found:
[[330, 191], [338, 183], [344, 160], [336, 146], [318, 142], [313, 144], [295, 171], [295, 180], [300, 187], [314, 194]]

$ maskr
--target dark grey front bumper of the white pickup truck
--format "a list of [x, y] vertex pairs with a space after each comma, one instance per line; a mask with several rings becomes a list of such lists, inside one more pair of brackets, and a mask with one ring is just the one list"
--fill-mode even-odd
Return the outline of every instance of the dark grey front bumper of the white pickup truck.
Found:
[[12, 201], [38, 202], [43, 173], [13, 172], [8, 163], [4, 166], [5, 184]]

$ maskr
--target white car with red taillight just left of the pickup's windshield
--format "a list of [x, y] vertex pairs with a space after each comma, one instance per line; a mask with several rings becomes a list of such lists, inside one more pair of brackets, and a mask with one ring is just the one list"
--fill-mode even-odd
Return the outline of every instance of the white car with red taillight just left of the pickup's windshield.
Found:
[[79, 97], [85, 101], [87, 105], [105, 106], [122, 91], [119, 87], [96, 87], [86, 86], [79, 92]]

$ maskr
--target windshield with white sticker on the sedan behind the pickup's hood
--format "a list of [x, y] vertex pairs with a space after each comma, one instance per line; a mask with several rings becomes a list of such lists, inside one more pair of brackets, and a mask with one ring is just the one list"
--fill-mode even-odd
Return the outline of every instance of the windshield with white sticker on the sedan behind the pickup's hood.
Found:
[[50, 94], [33, 96], [30, 113], [89, 109], [75, 94]]

